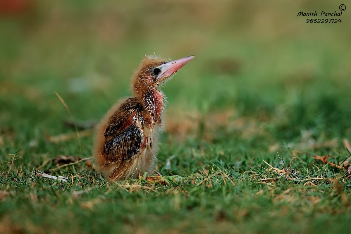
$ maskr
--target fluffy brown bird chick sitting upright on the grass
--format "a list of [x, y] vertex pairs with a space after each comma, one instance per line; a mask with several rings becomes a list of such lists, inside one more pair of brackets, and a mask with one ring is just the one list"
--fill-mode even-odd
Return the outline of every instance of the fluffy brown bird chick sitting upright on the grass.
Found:
[[132, 77], [134, 97], [112, 106], [96, 128], [93, 154], [102, 174], [117, 180], [152, 170], [165, 98], [158, 87], [193, 58], [144, 57]]

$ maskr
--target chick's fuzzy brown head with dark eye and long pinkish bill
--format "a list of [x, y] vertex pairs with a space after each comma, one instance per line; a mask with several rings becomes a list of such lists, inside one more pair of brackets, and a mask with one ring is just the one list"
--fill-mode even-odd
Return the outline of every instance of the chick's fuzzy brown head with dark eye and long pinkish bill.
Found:
[[144, 93], [156, 89], [161, 83], [169, 80], [180, 68], [190, 62], [195, 56], [173, 60], [171, 62], [154, 56], [144, 56], [139, 68], [132, 79], [132, 89], [135, 94]]

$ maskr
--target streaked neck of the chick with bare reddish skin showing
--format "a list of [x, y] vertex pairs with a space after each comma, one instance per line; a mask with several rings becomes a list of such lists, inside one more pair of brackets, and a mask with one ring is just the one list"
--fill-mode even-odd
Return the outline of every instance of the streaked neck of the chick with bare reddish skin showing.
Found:
[[158, 89], [150, 89], [140, 96], [141, 102], [147, 112], [150, 115], [150, 124], [161, 125], [161, 113], [163, 111], [164, 96]]

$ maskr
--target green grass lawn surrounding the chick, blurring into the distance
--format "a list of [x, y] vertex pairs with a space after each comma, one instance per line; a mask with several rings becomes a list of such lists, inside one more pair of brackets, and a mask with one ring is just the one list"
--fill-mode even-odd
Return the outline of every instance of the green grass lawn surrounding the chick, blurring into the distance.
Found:
[[[2, 16], [0, 233], [349, 233], [350, 178], [313, 156], [351, 156], [350, 14], [334, 25], [296, 17], [338, 6], [36, 1]], [[162, 87], [157, 170], [205, 181], [115, 183], [90, 159], [55, 162], [90, 158], [93, 142], [50, 140], [75, 133], [55, 92], [74, 121], [98, 122], [154, 52], [196, 55]]]

